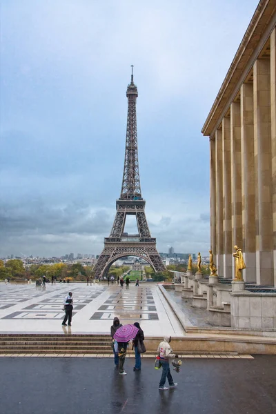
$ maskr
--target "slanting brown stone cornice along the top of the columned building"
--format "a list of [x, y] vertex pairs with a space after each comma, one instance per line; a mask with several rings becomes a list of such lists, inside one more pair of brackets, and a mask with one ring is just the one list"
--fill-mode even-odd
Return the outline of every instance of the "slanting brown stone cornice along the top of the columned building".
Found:
[[233, 62], [231, 63], [221, 88], [219, 89], [215, 102], [213, 103], [204, 126], [201, 129], [203, 135], [212, 136], [214, 134], [215, 128], [217, 128], [230, 106], [231, 99], [233, 100], [235, 95], [237, 95], [239, 88], [242, 86], [242, 82], [252, 68], [255, 59], [257, 59], [257, 56], [255, 55], [260, 51], [257, 47], [260, 40], [263, 40], [263, 46], [275, 26], [275, 20], [275, 0], [260, 0], [235, 54]]

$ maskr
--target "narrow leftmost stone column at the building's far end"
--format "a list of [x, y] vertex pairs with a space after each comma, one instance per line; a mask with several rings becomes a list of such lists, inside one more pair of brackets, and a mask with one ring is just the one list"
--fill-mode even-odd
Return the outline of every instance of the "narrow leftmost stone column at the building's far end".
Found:
[[210, 139], [210, 248], [217, 255], [217, 216], [216, 216], [216, 144]]

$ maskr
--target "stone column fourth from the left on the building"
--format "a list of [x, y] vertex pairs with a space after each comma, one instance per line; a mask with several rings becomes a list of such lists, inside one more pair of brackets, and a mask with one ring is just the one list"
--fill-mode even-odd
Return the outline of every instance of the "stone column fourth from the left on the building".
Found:
[[[242, 247], [242, 154], [241, 105], [230, 106], [231, 194], [232, 194], [232, 249]], [[235, 279], [235, 260], [232, 255], [232, 278]]]

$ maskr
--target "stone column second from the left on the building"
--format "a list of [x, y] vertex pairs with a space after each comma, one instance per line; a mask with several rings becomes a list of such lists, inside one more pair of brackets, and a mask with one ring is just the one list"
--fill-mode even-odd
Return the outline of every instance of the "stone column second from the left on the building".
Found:
[[223, 181], [222, 181], [222, 131], [215, 132], [216, 156], [216, 218], [217, 218], [217, 273], [224, 276], [224, 226], [223, 226]]

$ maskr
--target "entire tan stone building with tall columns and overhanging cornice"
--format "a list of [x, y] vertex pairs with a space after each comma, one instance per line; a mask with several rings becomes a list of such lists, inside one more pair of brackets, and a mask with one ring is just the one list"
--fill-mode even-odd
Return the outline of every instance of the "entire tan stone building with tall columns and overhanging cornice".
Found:
[[276, 1], [261, 0], [201, 130], [210, 137], [210, 246], [233, 278], [276, 286]]

